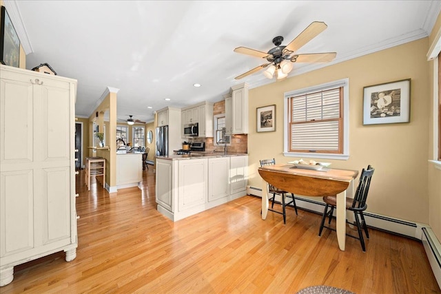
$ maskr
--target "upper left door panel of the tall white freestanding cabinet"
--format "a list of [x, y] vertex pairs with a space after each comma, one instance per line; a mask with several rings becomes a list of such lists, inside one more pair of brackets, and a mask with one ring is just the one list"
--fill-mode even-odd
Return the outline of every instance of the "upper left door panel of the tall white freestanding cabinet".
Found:
[[2, 79], [0, 86], [1, 162], [12, 165], [32, 162], [34, 132], [32, 84], [29, 81]]

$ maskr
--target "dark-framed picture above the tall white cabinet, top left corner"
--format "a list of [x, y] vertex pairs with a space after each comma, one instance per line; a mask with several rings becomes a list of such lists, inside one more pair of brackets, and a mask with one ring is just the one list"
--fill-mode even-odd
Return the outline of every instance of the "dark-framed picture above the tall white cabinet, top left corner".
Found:
[[1, 6], [0, 36], [0, 62], [19, 67], [20, 40], [4, 6]]

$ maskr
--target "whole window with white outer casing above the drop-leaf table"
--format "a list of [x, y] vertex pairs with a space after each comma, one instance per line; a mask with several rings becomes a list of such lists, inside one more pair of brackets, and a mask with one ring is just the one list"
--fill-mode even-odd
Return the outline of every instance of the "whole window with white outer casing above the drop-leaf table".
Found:
[[285, 156], [349, 158], [348, 79], [285, 94]]

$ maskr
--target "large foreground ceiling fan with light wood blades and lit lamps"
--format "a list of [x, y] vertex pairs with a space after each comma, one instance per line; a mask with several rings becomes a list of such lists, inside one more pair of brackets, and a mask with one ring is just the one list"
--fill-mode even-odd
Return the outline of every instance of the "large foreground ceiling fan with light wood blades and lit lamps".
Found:
[[262, 52], [246, 47], [238, 47], [234, 49], [234, 52], [247, 54], [254, 57], [266, 59], [268, 63], [254, 67], [252, 70], [236, 76], [236, 80], [244, 78], [249, 74], [254, 74], [265, 67], [268, 67], [263, 74], [267, 78], [273, 78], [276, 74], [277, 80], [286, 78], [289, 72], [293, 68], [294, 62], [300, 63], [324, 63], [332, 61], [336, 58], [336, 52], [326, 52], [326, 53], [309, 53], [309, 54], [297, 54], [296, 51], [300, 49], [303, 45], [314, 39], [320, 32], [323, 32], [327, 28], [327, 24], [314, 21], [308, 27], [303, 30], [291, 43], [288, 45], [281, 45], [283, 41], [283, 36], [276, 36], [273, 39], [274, 45], [276, 47], [272, 48], [268, 52]]

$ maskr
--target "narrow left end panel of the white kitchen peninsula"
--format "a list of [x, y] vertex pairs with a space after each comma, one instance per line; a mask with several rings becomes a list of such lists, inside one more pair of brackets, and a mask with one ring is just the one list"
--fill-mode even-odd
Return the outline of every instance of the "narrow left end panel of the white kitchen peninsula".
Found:
[[156, 160], [156, 175], [156, 203], [173, 212], [173, 161]]

